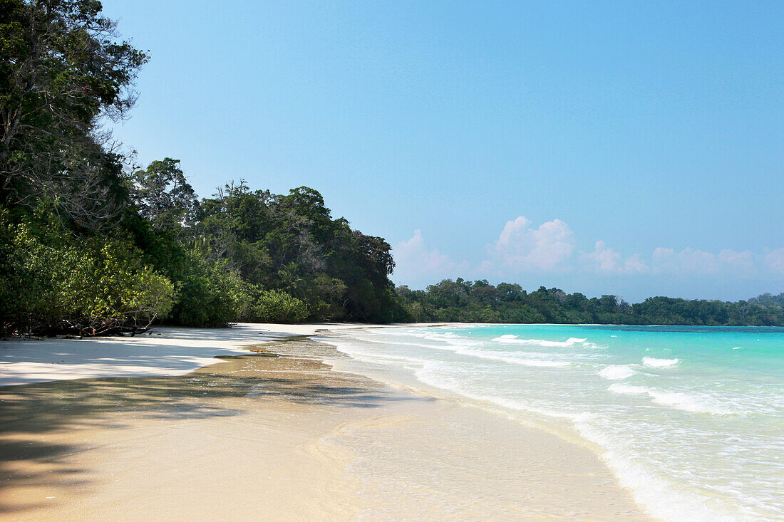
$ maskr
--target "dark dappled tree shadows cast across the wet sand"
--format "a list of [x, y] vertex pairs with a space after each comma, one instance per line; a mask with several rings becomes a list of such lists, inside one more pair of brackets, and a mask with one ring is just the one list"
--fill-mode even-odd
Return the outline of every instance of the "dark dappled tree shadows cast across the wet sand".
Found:
[[[278, 343], [307, 352], [323, 344], [292, 337], [249, 347], [255, 353], [220, 357], [223, 362], [172, 377], [77, 379], [0, 387], [0, 513], [27, 511], [38, 504], [9, 503], [14, 488], [38, 482], [60, 488], [84, 487], [68, 455], [87, 448], [53, 442], [51, 434], [74, 430], [122, 430], [131, 419], [206, 419], [240, 415], [232, 398], [253, 402], [290, 401], [327, 407], [376, 408], [387, 401], [411, 400], [353, 375], [330, 372], [313, 359], [280, 356]], [[296, 343], [292, 345], [290, 343]], [[253, 401], [253, 402], [252, 402]], [[128, 419], [128, 420], [125, 420]], [[49, 437], [47, 435], [50, 434]], [[41, 471], [37, 471], [41, 470]]]

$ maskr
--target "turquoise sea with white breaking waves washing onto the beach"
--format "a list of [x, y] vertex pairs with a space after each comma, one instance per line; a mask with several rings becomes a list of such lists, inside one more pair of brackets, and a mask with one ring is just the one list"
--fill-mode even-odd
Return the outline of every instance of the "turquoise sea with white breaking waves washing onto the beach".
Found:
[[586, 444], [664, 520], [784, 520], [784, 328], [362, 329], [341, 366]]

